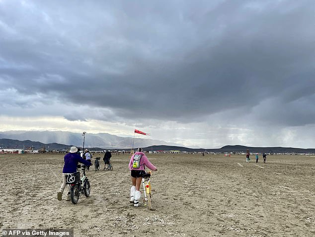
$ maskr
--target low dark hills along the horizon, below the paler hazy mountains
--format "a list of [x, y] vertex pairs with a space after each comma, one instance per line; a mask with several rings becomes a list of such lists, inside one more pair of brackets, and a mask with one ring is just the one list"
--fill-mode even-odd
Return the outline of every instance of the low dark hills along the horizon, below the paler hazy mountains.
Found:
[[[28, 149], [29, 147], [33, 147], [34, 150], [39, 150], [42, 147], [45, 147], [46, 150], [63, 150], [63, 149], [69, 149], [73, 145], [66, 145], [66, 144], [60, 144], [60, 143], [42, 143], [39, 141], [31, 141], [31, 140], [13, 140], [13, 139], [0, 139], [0, 148], [15, 148], [15, 149]], [[78, 146], [82, 148], [82, 146]], [[135, 146], [136, 147], [136, 146]], [[89, 147], [90, 150], [97, 151], [97, 150], [105, 150], [105, 149], [111, 149], [110, 147]], [[127, 148], [115, 148], [118, 150], [130, 150], [131, 147]], [[187, 152], [235, 152], [235, 153], [242, 153], [246, 152], [247, 149], [249, 149], [252, 153], [315, 153], [314, 148], [310, 149], [303, 149], [303, 148], [293, 148], [293, 147], [248, 147], [248, 146], [242, 146], [242, 145], [227, 145], [223, 146], [221, 148], [216, 149], [205, 149], [205, 148], [188, 148], [183, 146], [168, 146], [168, 145], [153, 145], [153, 146], [147, 146], [143, 147], [145, 151], [170, 151], [170, 150], [179, 150], [179, 151], [187, 151]]]

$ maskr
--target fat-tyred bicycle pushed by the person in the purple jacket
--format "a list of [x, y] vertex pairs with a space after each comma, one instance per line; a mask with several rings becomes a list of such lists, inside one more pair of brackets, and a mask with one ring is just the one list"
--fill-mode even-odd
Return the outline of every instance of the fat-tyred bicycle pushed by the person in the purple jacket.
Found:
[[[80, 168], [81, 166], [78, 165], [78, 167]], [[83, 171], [82, 177], [80, 177], [79, 171], [74, 174], [68, 174], [66, 177], [66, 183], [70, 185], [70, 198], [73, 204], [78, 203], [81, 194], [89, 197], [91, 192], [90, 183], [85, 175], [85, 165], [82, 166], [81, 171]]]

